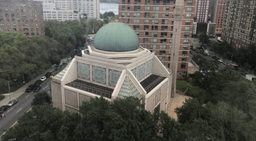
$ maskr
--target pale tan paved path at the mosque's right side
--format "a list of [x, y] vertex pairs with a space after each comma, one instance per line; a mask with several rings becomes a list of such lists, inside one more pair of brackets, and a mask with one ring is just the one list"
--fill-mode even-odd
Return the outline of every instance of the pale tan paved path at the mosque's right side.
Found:
[[171, 98], [171, 104], [167, 107], [165, 112], [172, 118], [177, 121], [177, 114], [174, 112], [174, 109], [177, 107], [181, 107], [185, 99], [192, 98], [185, 95], [176, 94], [174, 98]]

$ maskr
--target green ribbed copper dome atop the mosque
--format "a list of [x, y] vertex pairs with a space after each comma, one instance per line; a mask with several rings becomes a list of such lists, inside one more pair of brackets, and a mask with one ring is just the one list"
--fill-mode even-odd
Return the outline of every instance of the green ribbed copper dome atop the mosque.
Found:
[[121, 22], [111, 22], [101, 27], [93, 42], [94, 48], [103, 51], [132, 51], [139, 48], [135, 31]]

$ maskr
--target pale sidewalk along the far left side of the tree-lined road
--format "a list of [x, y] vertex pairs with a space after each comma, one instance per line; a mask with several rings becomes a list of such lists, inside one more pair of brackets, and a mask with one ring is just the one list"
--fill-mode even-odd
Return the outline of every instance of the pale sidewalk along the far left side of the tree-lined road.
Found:
[[[70, 53], [72, 53], [72, 51], [71, 51]], [[70, 53], [69, 53], [68, 55], [66, 55], [65, 58], [60, 59], [60, 62], [62, 63], [63, 60], [68, 59]], [[53, 71], [55, 70], [55, 66], [56, 66], [55, 64], [52, 65], [51, 68], [48, 68], [48, 69], [47, 69], [47, 72], [53, 72]], [[46, 71], [44, 71], [43, 73], [41, 73], [41, 74], [39, 74], [38, 76], [36, 76], [36, 78], [34, 78], [33, 80], [31, 80], [31, 81], [25, 83], [25, 84], [22, 86], [22, 88], [19, 88], [19, 89], [15, 90], [14, 92], [10, 93], [11, 100], [12, 100], [12, 99], [17, 99], [18, 97], [20, 97], [23, 93], [25, 93], [26, 88], [27, 88], [30, 84], [34, 84], [34, 82], [35, 82], [36, 80], [41, 79], [41, 77], [44, 76], [45, 74], [46, 74]], [[0, 101], [0, 106], [3, 106], [3, 105], [8, 104], [9, 101], [10, 101], [9, 93], [3, 94], [3, 95], [4, 95], [5, 98]]]

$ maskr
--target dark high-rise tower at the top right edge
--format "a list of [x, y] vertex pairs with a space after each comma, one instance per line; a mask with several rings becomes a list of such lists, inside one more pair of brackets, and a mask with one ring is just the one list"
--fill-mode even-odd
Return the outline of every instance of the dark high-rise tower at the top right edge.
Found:
[[222, 39], [236, 49], [256, 43], [255, 4], [254, 0], [227, 0]]

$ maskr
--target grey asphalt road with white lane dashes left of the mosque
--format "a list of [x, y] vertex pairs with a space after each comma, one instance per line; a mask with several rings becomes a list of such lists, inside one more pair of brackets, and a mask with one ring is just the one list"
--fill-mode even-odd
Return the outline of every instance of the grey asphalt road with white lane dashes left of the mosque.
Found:
[[[63, 70], [67, 64], [61, 65], [60, 69], [55, 69], [53, 72], [59, 73], [61, 70]], [[40, 91], [46, 91], [49, 95], [51, 95], [50, 92], [50, 83], [52, 79], [47, 78], [44, 82], [42, 82], [41, 86], [42, 89]], [[26, 88], [23, 88], [25, 91]], [[25, 92], [22, 94], [18, 99], [18, 103], [15, 104], [12, 107], [9, 107], [4, 112], [5, 118], [0, 119], [0, 135], [2, 135], [7, 129], [9, 129], [12, 125], [16, 124], [16, 121], [18, 120], [18, 117], [26, 113], [31, 108], [31, 102], [33, 101], [34, 95], [37, 92]]]

